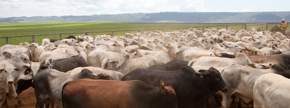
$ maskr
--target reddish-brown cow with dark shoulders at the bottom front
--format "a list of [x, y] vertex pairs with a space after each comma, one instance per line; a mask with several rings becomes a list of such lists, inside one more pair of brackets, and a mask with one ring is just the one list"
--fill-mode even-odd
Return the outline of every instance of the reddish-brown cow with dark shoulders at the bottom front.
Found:
[[78, 79], [63, 86], [63, 106], [68, 108], [177, 108], [172, 86], [159, 87], [135, 81]]

